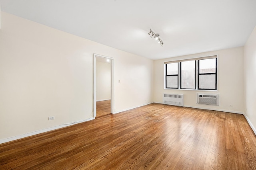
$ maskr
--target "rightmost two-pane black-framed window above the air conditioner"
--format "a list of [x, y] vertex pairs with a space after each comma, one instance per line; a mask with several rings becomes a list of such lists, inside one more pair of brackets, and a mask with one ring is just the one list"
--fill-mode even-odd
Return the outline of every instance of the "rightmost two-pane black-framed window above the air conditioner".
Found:
[[217, 59], [198, 60], [198, 89], [217, 90]]

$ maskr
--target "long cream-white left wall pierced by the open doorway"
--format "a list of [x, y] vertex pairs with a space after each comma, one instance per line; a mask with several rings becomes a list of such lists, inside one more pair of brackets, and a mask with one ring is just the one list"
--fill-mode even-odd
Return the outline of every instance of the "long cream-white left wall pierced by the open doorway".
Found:
[[0, 142], [91, 119], [93, 53], [114, 59], [114, 113], [152, 102], [152, 60], [2, 12]]

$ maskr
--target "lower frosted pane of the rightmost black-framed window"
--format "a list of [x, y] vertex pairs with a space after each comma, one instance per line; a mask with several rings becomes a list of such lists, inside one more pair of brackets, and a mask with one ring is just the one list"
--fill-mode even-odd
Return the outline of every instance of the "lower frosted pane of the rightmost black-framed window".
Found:
[[200, 89], [216, 89], [216, 74], [199, 75]]

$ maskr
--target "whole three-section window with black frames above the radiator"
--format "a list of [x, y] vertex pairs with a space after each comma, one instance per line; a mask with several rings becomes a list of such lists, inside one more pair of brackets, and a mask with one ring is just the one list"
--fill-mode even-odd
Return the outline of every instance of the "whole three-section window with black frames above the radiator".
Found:
[[217, 56], [164, 64], [165, 88], [217, 90]]

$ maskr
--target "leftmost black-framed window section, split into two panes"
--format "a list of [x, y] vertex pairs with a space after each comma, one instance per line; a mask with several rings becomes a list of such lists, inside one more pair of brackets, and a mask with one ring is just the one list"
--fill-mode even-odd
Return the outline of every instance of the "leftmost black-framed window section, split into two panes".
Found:
[[178, 63], [166, 64], [166, 88], [178, 88]]

